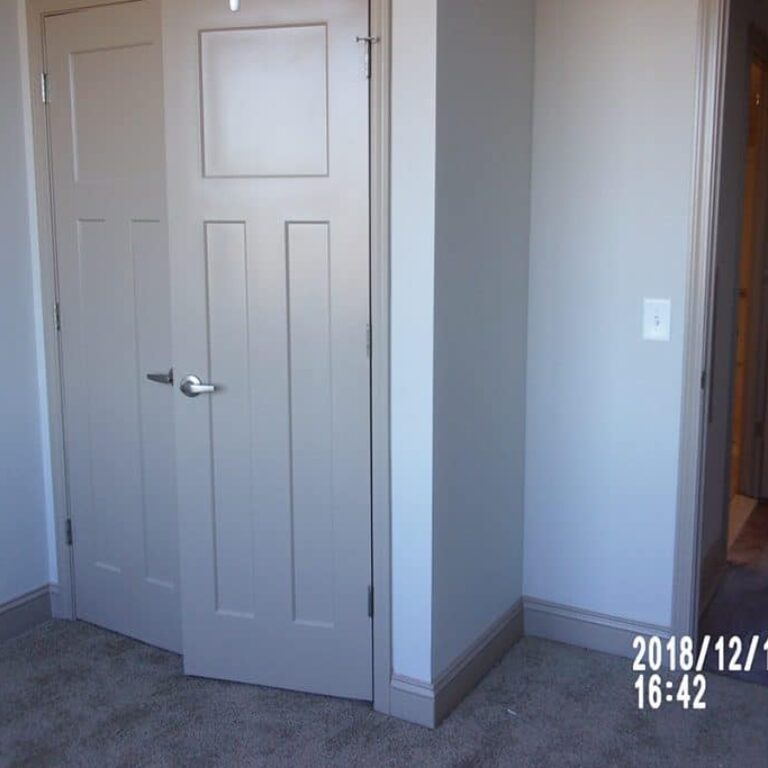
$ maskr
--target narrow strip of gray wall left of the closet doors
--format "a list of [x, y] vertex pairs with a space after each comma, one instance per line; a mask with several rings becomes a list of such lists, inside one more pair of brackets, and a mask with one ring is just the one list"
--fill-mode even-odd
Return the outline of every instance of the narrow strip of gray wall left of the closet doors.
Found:
[[49, 581], [19, 8], [0, 0], [0, 605]]

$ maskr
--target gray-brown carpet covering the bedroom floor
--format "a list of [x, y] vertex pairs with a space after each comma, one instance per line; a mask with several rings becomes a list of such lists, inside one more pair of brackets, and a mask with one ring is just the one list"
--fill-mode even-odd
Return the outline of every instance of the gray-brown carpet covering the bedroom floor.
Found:
[[0, 645], [0, 765], [768, 766], [768, 689], [713, 676], [706, 712], [639, 712], [630, 667], [525, 639], [431, 732], [365, 704], [185, 678], [177, 656], [50, 623]]

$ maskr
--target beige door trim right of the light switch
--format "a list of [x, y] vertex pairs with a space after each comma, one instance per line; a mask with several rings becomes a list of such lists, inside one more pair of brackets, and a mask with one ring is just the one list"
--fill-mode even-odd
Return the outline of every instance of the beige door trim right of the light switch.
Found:
[[698, 636], [705, 409], [712, 385], [710, 339], [722, 166], [730, 0], [701, 0], [691, 250], [687, 278], [672, 632]]

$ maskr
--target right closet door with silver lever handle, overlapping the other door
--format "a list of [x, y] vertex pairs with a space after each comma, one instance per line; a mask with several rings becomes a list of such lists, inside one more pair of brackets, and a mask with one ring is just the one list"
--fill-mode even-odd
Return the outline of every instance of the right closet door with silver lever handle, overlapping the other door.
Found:
[[163, 13], [185, 668], [370, 699], [368, 3]]

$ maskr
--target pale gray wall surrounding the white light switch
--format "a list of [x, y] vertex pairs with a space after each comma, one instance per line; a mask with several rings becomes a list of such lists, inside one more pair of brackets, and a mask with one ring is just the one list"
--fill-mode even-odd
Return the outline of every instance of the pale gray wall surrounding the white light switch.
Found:
[[[527, 596], [669, 625], [697, 0], [538, 0]], [[644, 297], [672, 341], [641, 338]]]

